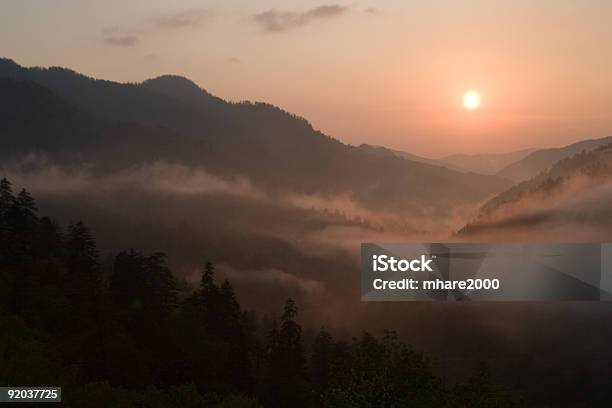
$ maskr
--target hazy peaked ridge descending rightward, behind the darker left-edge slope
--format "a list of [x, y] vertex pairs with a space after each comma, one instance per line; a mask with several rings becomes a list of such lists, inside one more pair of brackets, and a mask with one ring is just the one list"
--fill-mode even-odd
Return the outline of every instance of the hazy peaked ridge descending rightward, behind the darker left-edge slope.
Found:
[[[166, 160], [201, 166], [217, 176], [248, 176], [271, 191], [350, 192], [373, 208], [406, 209], [429, 202], [432, 208], [449, 209], [458, 202], [477, 202], [508, 185], [495, 176], [374, 157], [314, 130], [297, 115], [269, 104], [209, 97], [184, 78], [119, 84], [66, 69], [16, 68], [6, 62], [0, 64], [0, 77], [38, 83], [91, 115], [92, 121], [104, 123], [106, 131], [96, 133], [99, 140], [86, 141], [79, 149], [109, 166], [119, 164], [114, 155], [125, 164], [131, 156], [140, 161]], [[183, 85], [167, 89], [177, 81]], [[160, 83], [165, 92], [159, 90]], [[175, 95], [169, 96], [170, 92]], [[112, 134], [118, 124], [127, 127], [119, 132], [121, 137]], [[70, 123], [65, 126], [69, 129]], [[131, 131], [135, 136], [129, 136]], [[105, 157], [97, 158], [97, 149]]]

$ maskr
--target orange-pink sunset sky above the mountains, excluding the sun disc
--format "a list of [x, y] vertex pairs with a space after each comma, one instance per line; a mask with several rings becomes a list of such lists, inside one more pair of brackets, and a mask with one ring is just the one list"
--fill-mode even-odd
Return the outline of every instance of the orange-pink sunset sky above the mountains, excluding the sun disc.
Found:
[[437, 158], [612, 135], [610, 16], [607, 0], [0, 0], [0, 56], [183, 75], [346, 143]]

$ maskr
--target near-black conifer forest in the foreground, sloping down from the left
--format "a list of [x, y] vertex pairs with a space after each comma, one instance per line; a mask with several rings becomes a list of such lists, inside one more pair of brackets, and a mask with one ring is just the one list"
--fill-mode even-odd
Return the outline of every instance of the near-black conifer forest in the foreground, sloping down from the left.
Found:
[[[0, 181], [0, 385], [59, 385], [68, 407], [511, 407], [480, 371], [444, 387], [392, 332], [304, 346], [287, 300], [269, 327], [214, 266], [181, 289], [161, 253], [103, 272], [82, 222], [61, 229]], [[265, 332], [265, 335], [261, 333]]]

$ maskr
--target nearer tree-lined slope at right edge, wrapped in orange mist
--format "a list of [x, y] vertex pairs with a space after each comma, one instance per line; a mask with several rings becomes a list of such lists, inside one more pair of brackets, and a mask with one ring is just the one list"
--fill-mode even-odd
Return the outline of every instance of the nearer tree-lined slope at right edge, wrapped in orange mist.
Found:
[[[482, 206], [460, 235], [580, 240], [609, 231], [612, 224], [612, 141], [555, 163]], [[551, 235], [552, 234], [552, 235]], [[609, 236], [609, 234], [605, 235]], [[505, 238], [504, 238], [505, 239]]]

